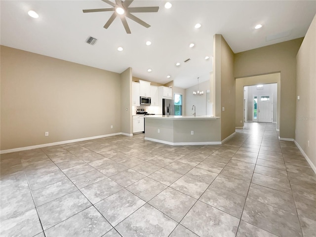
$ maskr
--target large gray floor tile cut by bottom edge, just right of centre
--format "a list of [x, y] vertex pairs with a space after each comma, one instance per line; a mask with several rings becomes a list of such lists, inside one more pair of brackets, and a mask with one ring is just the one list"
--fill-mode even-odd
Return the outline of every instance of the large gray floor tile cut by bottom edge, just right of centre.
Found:
[[235, 237], [239, 219], [203, 202], [197, 203], [183, 218], [181, 224], [198, 236]]

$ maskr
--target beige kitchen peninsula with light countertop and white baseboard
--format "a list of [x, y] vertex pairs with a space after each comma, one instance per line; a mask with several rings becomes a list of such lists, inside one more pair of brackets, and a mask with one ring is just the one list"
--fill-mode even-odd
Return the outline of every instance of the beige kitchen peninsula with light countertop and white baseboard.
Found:
[[163, 116], [145, 118], [145, 140], [172, 146], [221, 144], [220, 117]]

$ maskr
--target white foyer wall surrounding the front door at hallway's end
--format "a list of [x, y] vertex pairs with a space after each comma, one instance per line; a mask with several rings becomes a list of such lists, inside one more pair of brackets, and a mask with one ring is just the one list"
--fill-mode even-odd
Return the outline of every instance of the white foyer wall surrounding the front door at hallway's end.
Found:
[[247, 91], [247, 121], [252, 121], [253, 95], [273, 94], [273, 121], [276, 122], [277, 112], [277, 84], [264, 84], [262, 90], [257, 90], [257, 85], [245, 86]]

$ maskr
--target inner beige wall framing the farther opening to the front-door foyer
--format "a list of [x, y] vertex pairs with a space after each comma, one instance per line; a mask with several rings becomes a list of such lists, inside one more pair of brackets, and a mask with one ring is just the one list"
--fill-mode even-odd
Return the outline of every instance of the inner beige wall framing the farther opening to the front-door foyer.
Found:
[[[242, 127], [243, 124], [243, 87], [247, 85], [257, 85], [265, 83], [277, 83], [277, 105], [276, 105], [276, 128], [280, 124], [280, 73], [266, 74], [247, 78], [236, 79], [236, 127]], [[248, 111], [248, 114], [252, 113]], [[240, 120], [242, 122], [240, 122]]]

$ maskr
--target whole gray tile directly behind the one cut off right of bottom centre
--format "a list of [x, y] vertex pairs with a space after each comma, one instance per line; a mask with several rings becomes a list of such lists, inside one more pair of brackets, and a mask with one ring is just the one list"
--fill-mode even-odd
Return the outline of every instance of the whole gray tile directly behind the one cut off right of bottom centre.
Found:
[[211, 185], [199, 200], [240, 219], [246, 198]]

